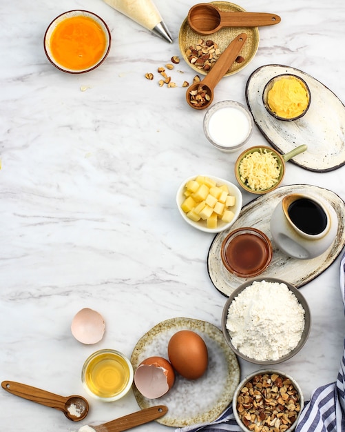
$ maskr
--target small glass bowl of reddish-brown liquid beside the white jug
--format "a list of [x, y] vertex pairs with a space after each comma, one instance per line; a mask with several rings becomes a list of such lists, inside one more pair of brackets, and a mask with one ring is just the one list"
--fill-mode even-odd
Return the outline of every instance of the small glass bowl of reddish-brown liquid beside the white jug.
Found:
[[269, 266], [272, 255], [269, 237], [257, 228], [251, 227], [231, 231], [224, 238], [220, 248], [224, 267], [239, 277], [260, 275]]

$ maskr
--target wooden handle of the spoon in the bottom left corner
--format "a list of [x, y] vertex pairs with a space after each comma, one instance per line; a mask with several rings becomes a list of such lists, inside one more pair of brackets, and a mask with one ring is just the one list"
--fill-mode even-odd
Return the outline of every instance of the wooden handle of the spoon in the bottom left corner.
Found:
[[23, 399], [32, 400], [32, 402], [50, 406], [60, 411], [65, 411], [67, 397], [55, 395], [49, 391], [36, 389], [36, 387], [14, 381], [3, 381], [1, 382], [1, 387], [8, 391], [8, 393], [12, 393], [12, 395], [23, 397]]

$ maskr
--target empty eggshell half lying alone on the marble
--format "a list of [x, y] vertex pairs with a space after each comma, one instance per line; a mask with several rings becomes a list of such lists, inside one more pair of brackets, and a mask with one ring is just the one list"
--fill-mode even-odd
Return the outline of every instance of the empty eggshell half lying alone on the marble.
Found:
[[100, 313], [83, 308], [74, 315], [71, 324], [72, 335], [82, 344], [96, 344], [102, 340], [105, 322]]

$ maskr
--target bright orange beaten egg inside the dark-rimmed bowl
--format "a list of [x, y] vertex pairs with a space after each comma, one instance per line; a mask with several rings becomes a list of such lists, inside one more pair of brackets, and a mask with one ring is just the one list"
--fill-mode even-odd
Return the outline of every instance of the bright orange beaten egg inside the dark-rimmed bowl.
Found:
[[50, 38], [52, 57], [70, 70], [94, 66], [103, 57], [106, 45], [101, 26], [94, 19], [84, 16], [64, 19]]

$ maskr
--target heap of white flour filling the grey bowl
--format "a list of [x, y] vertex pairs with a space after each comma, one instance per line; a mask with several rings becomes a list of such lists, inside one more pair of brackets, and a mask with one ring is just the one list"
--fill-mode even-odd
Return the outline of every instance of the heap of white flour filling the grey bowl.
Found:
[[253, 282], [231, 302], [227, 330], [247, 357], [278, 360], [300, 342], [304, 308], [286, 284]]

